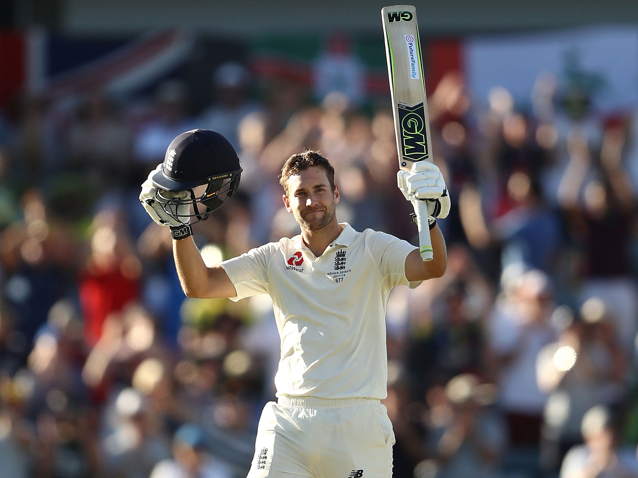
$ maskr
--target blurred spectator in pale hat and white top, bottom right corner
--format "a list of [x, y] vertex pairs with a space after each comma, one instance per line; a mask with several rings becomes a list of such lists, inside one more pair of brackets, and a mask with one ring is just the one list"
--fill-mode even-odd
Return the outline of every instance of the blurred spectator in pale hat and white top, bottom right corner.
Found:
[[638, 476], [635, 449], [623, 449], [618, 441], [616, 417], [607, 407], [597, 405], [582, 418], [584, 445], [570, 449], [563, 460], [560, 478]]

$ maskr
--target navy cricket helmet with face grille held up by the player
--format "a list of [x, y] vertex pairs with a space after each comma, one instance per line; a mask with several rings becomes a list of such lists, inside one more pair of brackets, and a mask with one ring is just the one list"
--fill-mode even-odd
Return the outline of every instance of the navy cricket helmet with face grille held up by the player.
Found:
[[[186, 131], [168, 145], [163, 167], [151, 178], [158, 187], [155, 200], [179, 222], [204, 221], [237, 192], [241, 171], [235, 148], [221, 134], [209, 129]], [[202, 185], [206, 187], [198, 188]], [[195, 188], [202, 189], [198, 196]], [[189, 196], [176, 199], [166, 191], [188, 191]], [[182, 205], [192, 205], [193, 214], [190, 207], [188, 214], [177, 214]]]

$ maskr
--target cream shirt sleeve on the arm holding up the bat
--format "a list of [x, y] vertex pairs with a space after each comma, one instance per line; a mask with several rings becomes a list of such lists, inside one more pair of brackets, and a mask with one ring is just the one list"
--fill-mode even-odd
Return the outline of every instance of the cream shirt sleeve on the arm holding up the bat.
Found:
[[368, 248], [375, 259], [385, 285], [392, 289], [396, 286], [419, 286], [422, 280], [410, 282], [405, 277], [405, 259], [417, 247], [403, 239], [386, 233], [369, 230]]

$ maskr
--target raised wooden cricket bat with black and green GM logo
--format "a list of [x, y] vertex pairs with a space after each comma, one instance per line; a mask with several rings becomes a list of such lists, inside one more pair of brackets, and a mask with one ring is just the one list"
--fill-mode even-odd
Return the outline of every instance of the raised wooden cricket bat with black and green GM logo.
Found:
[[[412, 163], [432, 161], [417, 9], [412, 5], [386, 6], [381, 10], [381, 17], [399, 168], [410, 170]], [[424, 261], [431, 261], [433, 250], [427, 225], [427, 201], [415, 203], [419, 252]]]

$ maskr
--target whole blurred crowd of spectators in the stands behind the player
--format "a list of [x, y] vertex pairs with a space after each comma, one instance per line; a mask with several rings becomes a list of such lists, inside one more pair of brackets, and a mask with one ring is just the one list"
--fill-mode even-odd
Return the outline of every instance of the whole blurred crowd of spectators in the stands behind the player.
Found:
[[[177, 134], [224, 134], [244, 168], [193, 228], [209, 265], [298, 233], [277, 176], [306, 148], [336, 168], [340, 221], [417, 241], [389, 97], [234, 62], [211, 89], [197, 112], [179, 80], [3, 112], [0, 478], [246, 475], [278, 332], [267, 296], [184, 297], [138, 202]], [[390, 297], [394, 476], [637, 477], [636, 118], [547, 75], [524, 106], [470, 98], [458, 73], [430, 92], [449, 266]]]

